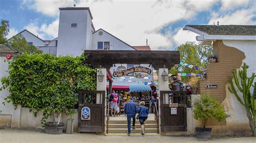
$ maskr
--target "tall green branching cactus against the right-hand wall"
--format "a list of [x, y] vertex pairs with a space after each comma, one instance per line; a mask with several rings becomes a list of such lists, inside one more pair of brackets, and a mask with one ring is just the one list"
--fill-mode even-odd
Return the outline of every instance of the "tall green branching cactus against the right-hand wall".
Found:
[[242, 92], [242, 98], [243, 100], [238, 96], [237, 90], [235, 90], [234, 83], [232, 78], [230, 78], [230, 87], [228, 87], [228, 90], [232, 94], [237, 97], [237, 100], [245, 106], [246, 112], [247, 112], [247, 118], [249, 119], [250, 127], [251, 127], [251, 133], [255, 137], [255, 115], [256, 115], [256, 89], [255, 89], [255, 83], [254, 83], [254, 94], [251, 95], [250, 93], [250, 88], [252, 86], [253, 80], [255, 76], [255, 73], [252, 73], [251, 77], [247, 77], [247, 69], [249, 66], [244, 63], [242, 66], [242, 70], [239, 71], [239, 77], [240, 77], [240, 83], [239, 83], [239, 78], [238, 78], [238, 73], [237, 69], [233, 69], [233, 75], [234, 75], [234, 83], [238, 90]]

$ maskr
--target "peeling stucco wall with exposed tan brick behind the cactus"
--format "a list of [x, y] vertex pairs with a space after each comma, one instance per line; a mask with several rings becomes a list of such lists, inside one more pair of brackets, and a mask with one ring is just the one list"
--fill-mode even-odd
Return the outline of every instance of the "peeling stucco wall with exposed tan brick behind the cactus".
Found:
[[[248, 43], [247, 43], [248, 42]], [[217, 40], [213, 43], [214, 54], [218, 62], [207, 65], [207, 78], [200, 81], [200, 94], [210, 94], [219, 99], [225, 107], [228, 118], [218, 122], [208, 120], [207, 126], [212, 127], [213, 136], [247, 136], [250, 135], [250, 126], [246, 117], [246, 111], [237, 98], [228, 90], [230, 86], [229, 77], [233, 77], [232, 69], [241, 68], [246, 62], [252, 69], [248, 72], [255, 72], [255, 42], [252, 41], [229, 41]], [[238, 45], [240, 48], [236, 48]], [[242, 48], [243, 47], [243, 48]], [[254, 63], [254, 64], [253, 64]], [[249, 74], [249, 73], [248, 73]], [[206, 89], [206, 84], [217, 84], [217, 89]], [[239, 94], [242, 97], [241, 93]]]

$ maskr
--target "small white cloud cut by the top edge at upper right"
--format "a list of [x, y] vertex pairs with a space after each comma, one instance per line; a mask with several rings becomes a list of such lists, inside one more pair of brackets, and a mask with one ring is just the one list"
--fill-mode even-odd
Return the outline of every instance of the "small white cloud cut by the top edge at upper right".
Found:
[[235, 7], [245, 6], [250, 0], [221, 0], [221, 10], [231, 10]]

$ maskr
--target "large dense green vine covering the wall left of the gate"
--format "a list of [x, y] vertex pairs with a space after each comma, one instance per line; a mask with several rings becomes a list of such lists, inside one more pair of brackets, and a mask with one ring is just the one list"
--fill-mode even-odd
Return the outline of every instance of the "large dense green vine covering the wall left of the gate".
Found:
[[42, 123], [52, 113], [70, 115], [78, 104], [78, 90], [95, 90], [96, 70], [86, 67], [83, 56], [22, 54], [9, 62], [9, 76], [2, 89], [9, 88], [6, 102], [30, 108], [35, 116], [42, 110]]

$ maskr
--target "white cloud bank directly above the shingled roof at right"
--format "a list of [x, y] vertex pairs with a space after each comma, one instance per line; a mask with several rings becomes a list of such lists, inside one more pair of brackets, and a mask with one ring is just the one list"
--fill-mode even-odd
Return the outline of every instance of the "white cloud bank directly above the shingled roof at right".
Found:
[[255, 20], [252, 20], [255, 16], [255, 12], [255, 8], [242, 9], [234, 13], [228, 13], [227, 15], [220, 15], [214, 12], [208, 24], [212, 25], [213, 22], [215, 22], [215, 24], [219, 22], [220, 25], [255, 25]]

